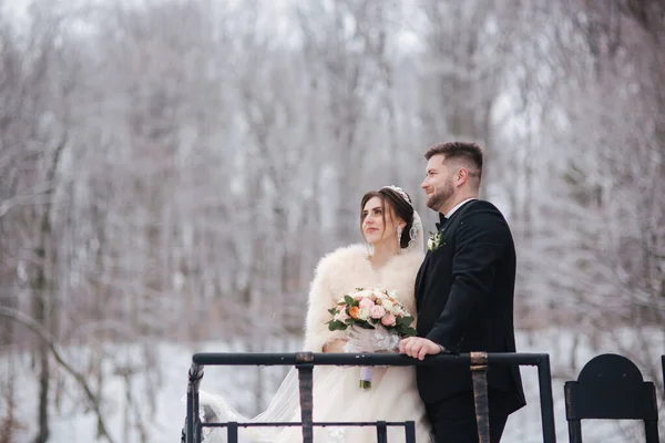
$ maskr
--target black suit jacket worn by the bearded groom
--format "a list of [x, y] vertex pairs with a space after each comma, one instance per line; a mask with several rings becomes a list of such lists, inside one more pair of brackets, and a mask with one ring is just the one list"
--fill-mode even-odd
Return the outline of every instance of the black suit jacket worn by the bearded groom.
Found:
[[[503, 215], [471, 200], [443, 223], [444, 244], [428, 251], [416, 279], [418, 336], [458, 352], [514, 352], [515, 248]], [[418, 367], [426, 403], [472, 389], [466, 365]], [[490, 388], [510, 393], [513, 412], [525, 404], [518, 367], [490, 367]]]

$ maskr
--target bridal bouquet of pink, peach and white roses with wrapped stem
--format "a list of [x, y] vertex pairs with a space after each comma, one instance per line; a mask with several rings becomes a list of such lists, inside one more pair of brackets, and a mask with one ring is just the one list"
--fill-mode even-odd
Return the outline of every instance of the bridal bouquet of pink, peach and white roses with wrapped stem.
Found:
[[[331, 331], [350, 329], [349, 336], [369, 338], [369, 351], [392, 351], [401, 337], [416, 336], [411, 327], [413, 317], [395, 297], [395, 292], [381, 288], [356, 288], [346, 293], [337, 306], [328, 310], [332, 319], [327, 322]], [[374, 333], [362, 330], [374, 330]], [[362, 339], [362, 338], [360, 338]], [[355, 351], [368, 351], [357, 349]], [[371, 367], [360, 368], [360, 388], [371, 388]]]

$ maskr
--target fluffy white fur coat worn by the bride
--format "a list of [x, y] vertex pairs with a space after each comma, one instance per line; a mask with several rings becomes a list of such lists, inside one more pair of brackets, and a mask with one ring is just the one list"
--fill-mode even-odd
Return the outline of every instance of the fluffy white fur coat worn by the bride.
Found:
[[364, 245], [339, 248], [321, 258], [309, 290], [305, 351], [321, 352], [326, 342], [345, 337], [344, 331], [328, 330], [326, 322], [331, 319], [328, 309], [335, 307], [340, 297], [352, 292], [355, 288], [377, 287], [395, 290], [399, 301], [416, 317], [413, 292], [422, 257], [421, 253], [395, 256], [378, 271], [367, 259], [367, 248]]

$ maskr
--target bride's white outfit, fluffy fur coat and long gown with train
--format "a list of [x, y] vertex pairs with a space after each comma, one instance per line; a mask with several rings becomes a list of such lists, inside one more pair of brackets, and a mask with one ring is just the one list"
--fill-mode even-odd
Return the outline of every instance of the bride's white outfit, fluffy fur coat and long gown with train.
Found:
[[[319, 262], [309, 292], [305, 328], [305, 351], [321, 352], [325, 343], [344, 338], [345, 331], [329, 331], [328, 309], [347, 292], [359, 287], [380, 287], [396, 292], [397, 299], [415, 316], [415, 279], [422, 254], [405, 251], [392, 257], [375, 270], [364, 245], [340, 248]], [[415, 324], [412, 324], [415, 326]], [[358, 367], [314, 368], [314, 421], [315, 422], [416, 422], [416, 441], [430, 442], [430, 425], [424, 405], [416, 388], [415, 367], [375, 368], [372, 385], [360, 389]], [[270, 404], [259, 415], [245, 418], [223, 398], [201, 392], [201, 404], [209, 405], [218, 422], [299, 422], [300, 409], [297, 371], [293, 369], [285, 378]], [[300, 426], [247, 427], [238, 430], [243, 443], [299, 443]], [[377, 441], [376, 426], [319, 427], [314, 430], [315, 443], [370, 443]], [[226, 429], [215, 427], [205, 442], [225, 442]], [[390, 443], [405, 442], [403, 427], [388, 427]]]

